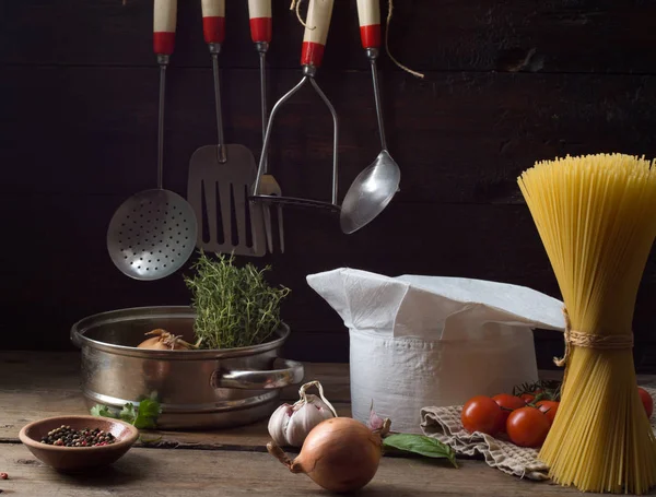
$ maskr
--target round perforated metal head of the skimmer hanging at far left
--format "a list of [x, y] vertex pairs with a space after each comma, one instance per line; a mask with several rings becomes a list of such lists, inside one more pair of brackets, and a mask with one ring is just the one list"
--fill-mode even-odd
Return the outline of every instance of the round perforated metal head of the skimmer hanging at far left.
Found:
[[196, 247], [196, 214], [173, 191], [152, 189], [126, 200], [107, 230], [116, 267], [136, 280], [159, 280], [177, 271]]

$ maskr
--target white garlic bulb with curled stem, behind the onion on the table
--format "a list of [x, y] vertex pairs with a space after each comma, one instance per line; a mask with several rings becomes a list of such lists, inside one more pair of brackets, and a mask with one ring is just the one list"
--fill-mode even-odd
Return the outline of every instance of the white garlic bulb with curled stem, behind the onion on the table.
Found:
[[[311, 387], [317, 387], [319, 397], [305, 393]], [[325, 419], [337, 417], [318, 381], [305, 383], [298, 390], [298, 395], [301, 399], [294, 405], [282, 404], [269, 418], [269, 435], [279, 446], [301, 447], [315, 426]]]

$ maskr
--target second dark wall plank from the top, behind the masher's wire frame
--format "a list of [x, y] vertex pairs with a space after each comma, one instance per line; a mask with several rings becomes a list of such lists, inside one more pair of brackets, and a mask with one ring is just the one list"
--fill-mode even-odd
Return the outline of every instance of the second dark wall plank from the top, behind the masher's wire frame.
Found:
[[[0, 162], [33, 166], [7, 168], [0, 192], [127, 197], [153, 188], [157, 75], [154, 63], [3, 68], [0, 92], [12, 98], [0, 114]], [[271, 71], [271, 105], [300, 79], [300, 71]], [[341, 200], [380, 150], [371, 74], [326, 71], [317, 82], [340, 117]], [[656, 154], [654, 75], [440, 72], [408, 81], [387, 72], [380, 86], [389, 151], [402, 168], [395, 204], [524, 203], [516, 178], [537, 159], [599, 150]], [[257, 70], [223, 70], [225, 138], [256, 157], [259, 91]], [[216, 140], [211, 70], [171, 68], [166, 95], [164, 184], [186, 194], [189, 157]], [[330, 116], [309, 87], [282, 107], [269, 152], [288, 194], [329, 198], [331, 140]]]

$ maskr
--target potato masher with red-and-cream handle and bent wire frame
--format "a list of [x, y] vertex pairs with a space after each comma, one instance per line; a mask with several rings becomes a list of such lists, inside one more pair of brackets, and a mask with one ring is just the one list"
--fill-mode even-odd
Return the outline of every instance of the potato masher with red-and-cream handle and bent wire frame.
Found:
[[[292, 90], [284, 94], [271, 109], [269, 116], [269, 122], [267, 125], [267, 132], [265, 134], [265, 143], [262, 144], [262, 155], [259, 161], [259, 167], [257, 170], [257, 179], [253, 188], [253, 196], [250, 199], [253, 203], [277, 203], [282, 205], [292, 206], [307, 206], [307, 208], [320, 208], [327, 209], [331, 212], [339, 212], [340, 208], [337, 203], [337, 143], [338, 143], [338, 122], [337, 113], [335, 107], [324, 94], [314, 76], [317, 69], [321, 64], [324, 56], [324, 48], [326, 46], [326, 38], [328, 37], [328, 28], [330, 26], [330, 17], [332, 15], [332, 3], [333, 0], [309, 0], [307, 7], [307, 19], [305, 20], [305, 33], [303, 35], [303, 49], [301, 52], [301, 64], [303, 66], [303, 78], [301, 82], [296, 84]], [[280, 108], [288, 102], [305, 83], [312, 84], [319, 97], [324, 100], [330, 115], [332, 116], [332, 194], [330, 202], [304, 199], [298, 197], [284, 197], [284, 196], [272, 196], [263, 194], [260, 192], [260, 185], [262, 182], [262, 176], [265, 174], [265, 162], [267, 151], [269, 149], [269, 141], [271, 139], [271, 129], [273, 127], [273, 119]]]

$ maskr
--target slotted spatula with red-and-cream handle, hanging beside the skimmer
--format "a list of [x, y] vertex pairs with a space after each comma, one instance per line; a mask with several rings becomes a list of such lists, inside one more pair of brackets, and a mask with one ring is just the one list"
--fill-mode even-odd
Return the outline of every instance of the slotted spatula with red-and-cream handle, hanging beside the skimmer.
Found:
[[261, 205], [247, 202], [257, 176], [255, 156], [244, 145], [225, 144], [219, 81], [219, 52], [225, 37], [224, 0], [202, 0], [204, 40], [212, 56], [218, 144], [191, 155], [187, 198], [201, 225], [196, 246], [236, 256], [265, 255]]

